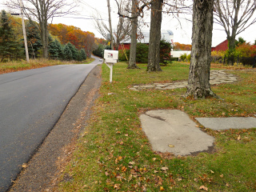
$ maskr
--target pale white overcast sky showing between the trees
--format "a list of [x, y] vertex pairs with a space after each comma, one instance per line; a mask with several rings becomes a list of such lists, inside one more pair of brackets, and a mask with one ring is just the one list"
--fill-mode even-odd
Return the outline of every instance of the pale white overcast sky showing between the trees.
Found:
[[[7, 7], [3, 5], [6, 0], [0, 0], [0, 9], [7, 10]], [[24, 0], [23, 0], [24, 1]], [[96, 38], [102, 38], [102, 35], [98, 33], [94, 26], [94, 16], [98, 13], [102, 15], [102, 18], [108, 25], [108, 9], [106, 0], [80, 0], [79, 6], [76, 8], [76, 14], [67, 14], [60, 18], [53, 18], [49, 22], [63, 23], [69, 26], [77, 26], [81, 30], [90, 31], [95, 34]], [[110, 0], [112, 26], [115, 28], [118, 24], [117, 6], [114, 0]], [[171, 30], [174, 33], [174, 42], [180, 42], [184, 44], [191, 44], [192, 35], [192, 15], [180, 15], [179, 21], [173, 18], [171, 15], [163, 14], [162, 30]], [[150, 13], [145, 15], [145, 21], [150, 24]], [[146, 26], [144, 27], [146, 28]], [[238, 34], [238, 37], [242, 37], [246, 42], [254, 42], [256, 39], [256, 23], [250, 26], [247, 30]], [[238, 38], [237, 37], [237, 38]], [[222, 26], [214, 24], [212, 46], [217, 46], [219, 43], [226, 39], [226, 33], [222, 30]]]

